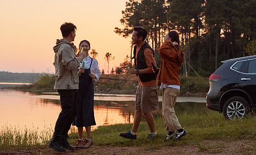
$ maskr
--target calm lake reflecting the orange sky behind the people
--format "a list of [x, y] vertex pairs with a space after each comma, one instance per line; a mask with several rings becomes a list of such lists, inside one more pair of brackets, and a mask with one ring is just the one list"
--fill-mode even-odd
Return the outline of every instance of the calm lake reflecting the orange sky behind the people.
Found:
[[[95, 94], [95, 119], [98, 126], [117, 123], [132, 123], [135, 95]], [[31, 92], [0, 89], [0, 127], [43, 131], [54, 129], [61, 112], [58, 93], [33, 94]], [[205, 113], [208, 110], [205, 98], [179, 97], [175, 105], [176, 114]], [[159, 110], [154, 115], [160, 115]], [[74, 128], [75, 129], [75, 128]]]

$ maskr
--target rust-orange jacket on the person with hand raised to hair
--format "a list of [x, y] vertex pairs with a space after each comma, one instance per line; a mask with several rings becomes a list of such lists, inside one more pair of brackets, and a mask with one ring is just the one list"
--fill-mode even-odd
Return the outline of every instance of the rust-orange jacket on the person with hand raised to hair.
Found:
[[182, 56], [180, 46], [173, 46], [171, 40], [165, 41], [159, 49], [161, 56], [160, 71], [156, 77], [161, 83], [180, 86]]

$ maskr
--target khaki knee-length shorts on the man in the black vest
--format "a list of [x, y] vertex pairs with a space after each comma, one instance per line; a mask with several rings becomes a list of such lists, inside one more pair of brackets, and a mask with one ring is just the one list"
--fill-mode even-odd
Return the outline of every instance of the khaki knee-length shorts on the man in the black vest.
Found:
[[157, 86], [140, 86], [136, 91], [136, 110], [141, 110], [143, 114], [158, 110]]

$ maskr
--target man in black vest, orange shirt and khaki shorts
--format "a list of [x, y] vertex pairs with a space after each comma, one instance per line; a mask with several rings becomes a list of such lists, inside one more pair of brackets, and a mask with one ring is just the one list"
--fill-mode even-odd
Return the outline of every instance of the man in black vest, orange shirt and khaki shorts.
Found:
[[138, 76], [139, 85], [136, 92], [135, 114], [131, 131], [120, 133], [124, 138], [136, 139], [137, 130], [140, 125], [142, 114], [150, 127], [150, 134], [147, 139], [156, 136], [155, 122], [151, 111], [158, 110], [157, 81], [156, 73], [153, 72], [152, 64], [156, 66], [154, 51], [144, 40], [147, 32], [143, 27], [134, 27], [132, 32], [132, 44], [134, 46], [133, 58], [136, 69], [129, 69], [128, 74]]

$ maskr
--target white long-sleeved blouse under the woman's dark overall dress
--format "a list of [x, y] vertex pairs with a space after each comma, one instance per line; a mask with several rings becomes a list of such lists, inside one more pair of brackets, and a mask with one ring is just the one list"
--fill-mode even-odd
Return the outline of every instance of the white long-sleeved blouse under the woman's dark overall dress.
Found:
[[[91, 59], [92, 59], [92, 63], [91, 63]], [[98, 65], [98, 62], [96, 59], [93, 59], [91, 57], [89, 57], [89, 55], [87, 57], [85, 57], [83, 59], [83, 62], [85, 62], [85, 69], [89, 69], [90, 68], [90, 65], [91, 65], [91, 73], [94, 73], [94, 75], [96, 76], [96, 79], [94, 79], [96, 82], [99, 81], [99, 78], [100, 78], [100, 75], [101, 75], [101, 72], [100, 72], [100, 69], [99, 69], [99, 65]], [[83, 62], [80, 63], [78, 69], [80, 69], [82, 66], [83, 66]]]

